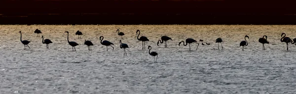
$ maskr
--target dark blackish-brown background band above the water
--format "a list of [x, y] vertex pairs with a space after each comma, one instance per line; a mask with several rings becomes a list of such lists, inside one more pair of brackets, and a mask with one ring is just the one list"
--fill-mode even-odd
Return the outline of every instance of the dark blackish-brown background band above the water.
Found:
[[296, 24], [293, 0], [0, 0], [0, 24]]

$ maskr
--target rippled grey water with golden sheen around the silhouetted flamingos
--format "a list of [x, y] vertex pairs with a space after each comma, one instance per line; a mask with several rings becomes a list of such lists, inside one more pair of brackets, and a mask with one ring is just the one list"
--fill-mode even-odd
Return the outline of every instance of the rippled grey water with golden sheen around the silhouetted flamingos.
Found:
[[[51, 39], [49, 49], [34, 31]], [[119, 48], [120, 36], [129, 45], [127, 56]], [[74, 33], [82, 31], [82, 39]], [[150, 40], [146, 50], [137, 40], [136, 30]], [[31, 49], [20, 42], [29, 40]], [[67, 43], [75, 41], [77, 51]], [[0, 92], [3, 94], [293, 94], [296, 92], [296, 46], [280, 42], [281, 33], [296, 37], [295, 26], [276, 25], [2, 25], [0, 26]], [[115, 45], [106, 51], [99, 37]], [[157, 47], [162, 35], [173, 40]], [[239, 43], [248, 35], [249, 45], [241, 51]], [[267, 35], [270, 44], [258, 39]], [[223, 39], [218, 50], [216, 38]], [[178, 46], [186, 38], [204, 43]], [[88, 51], [84, 39], [95, 45]], [[201, 42], [198, 41], [200, 44]], [[148, 54], [157, 52], [157, 63]]]

